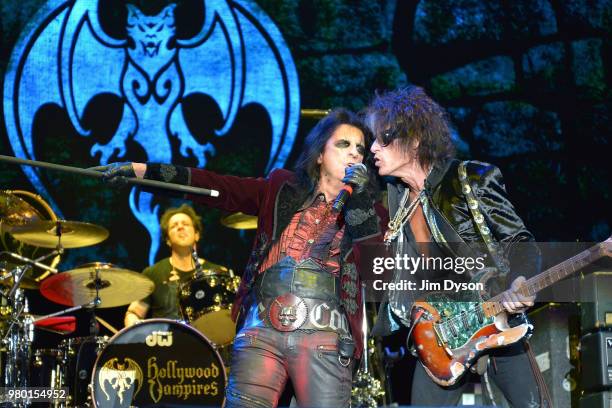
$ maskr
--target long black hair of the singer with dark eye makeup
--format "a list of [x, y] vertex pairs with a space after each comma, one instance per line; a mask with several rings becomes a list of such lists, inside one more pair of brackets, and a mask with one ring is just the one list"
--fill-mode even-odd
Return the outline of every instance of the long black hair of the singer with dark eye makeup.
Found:
[[[366, 158], [369, 155], [369, 150], [367, 149], [372, 141], [370, 132], [361, 118], [355, 113], [344, 108], [334, 109], [326, 117], [321, 119], [319, 123], [312, 128], [310, 133], [308, 133], [308, 136], [306, 136], [302, 154], [294, 168], [300, 187], [307, 191], [311, 191], [319, 182], [320, 165], [317, 163], [317, 159], [323, 152], [329, 138], [332, 137], [336, 129], [341, 125], [350, 125], [363, 132], [364, 145], [366, 147], [363, 162], [366, 164]], [[372, 171], [370, 171], [370, 174], [371, 173]]]

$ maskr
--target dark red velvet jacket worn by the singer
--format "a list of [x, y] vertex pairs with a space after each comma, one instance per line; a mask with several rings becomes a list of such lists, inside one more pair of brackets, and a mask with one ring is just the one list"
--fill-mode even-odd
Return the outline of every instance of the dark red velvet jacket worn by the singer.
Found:
[[[189, 184], [218, 190], [219, 197], [188, 195], [187, 198], [209, 207], [229, 212], [241, 211], [258, 217], [257, 233], [242, 281], [232, 316], [234, 320], [244, 312], [243, 300], [255, 279], [259, 264], [275, 240], [279, 239], [289, 224], [291, 217], [311, 193], [301, 191], [295, 184], [295, 174], [288, 170], [273, 170], [267, 178], [223, 176], [208, 170], [189, 169]], [[363, 319], [361, 282], [355, 267], [358, 254], [357, 243], [364, 240], [380, 240], [380, 219], [386, 212], [380, 205], [374, 205], [366, 194], [348, 200], [344, 208], [346, 222], [341, 247], [341, 300], [347, 313], [351, 331], [356, 344], [355, 356], [362, 352]]]

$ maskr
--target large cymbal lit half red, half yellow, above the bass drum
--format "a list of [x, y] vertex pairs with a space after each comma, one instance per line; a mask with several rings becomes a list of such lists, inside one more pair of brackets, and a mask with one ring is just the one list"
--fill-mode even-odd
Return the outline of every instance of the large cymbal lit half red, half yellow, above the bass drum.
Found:
[[42, 281], [40, 293], [52, 302], [77, 306], [95, 299], [96, 285], [101, 300], [99, 308], [123, 306], [144, 299], [155, 288], [149, 278], [138, 272], [110, 263], [93, 262], [48, 277]]

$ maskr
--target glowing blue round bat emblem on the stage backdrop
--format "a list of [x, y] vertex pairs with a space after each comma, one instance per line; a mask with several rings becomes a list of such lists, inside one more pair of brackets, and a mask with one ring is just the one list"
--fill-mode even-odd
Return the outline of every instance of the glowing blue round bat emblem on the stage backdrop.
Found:
[[[4, 81], [7, 134], [17, 157], [38, 158], [35, 120], [51, 105], [68, 118], [75, 139], [89, 142], [93, 164], [137, 155], [205, 167], [219, 155], [218, 144], [233, 137], [241, 112], [257, 105], [269, 130], [264, 170], [283, 167], [297, 134], [299, 89], [279, 30], [252, 1], [166, 4], [153, 14], [118, 1], [44, 5], [22, 32]], [[87, 118], [104, 103], [119, 113], [112, 129], [96, 134]], [[208, 134], [194, 130], [186, 114], [204, 110], [203, 103], [217, 113]], [[40, 172], [24, 172], [61, 214]], [[135, 189], [129, 203], [151, 238], [152, 263], [160, 244], [159, 206]]]

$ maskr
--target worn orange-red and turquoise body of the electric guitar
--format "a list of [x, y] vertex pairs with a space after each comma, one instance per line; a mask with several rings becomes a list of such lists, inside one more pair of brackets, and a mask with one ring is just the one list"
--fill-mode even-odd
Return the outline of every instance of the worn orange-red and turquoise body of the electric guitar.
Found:
[[531, 325], [510, 327], [507, 315], [475, 313], [481, 302], [456, 301], [431, 294], [412, 309], [412, 339], [431, 379], [441, 386], [455, 384], [487, 350], [516, 343]]

